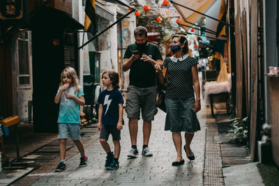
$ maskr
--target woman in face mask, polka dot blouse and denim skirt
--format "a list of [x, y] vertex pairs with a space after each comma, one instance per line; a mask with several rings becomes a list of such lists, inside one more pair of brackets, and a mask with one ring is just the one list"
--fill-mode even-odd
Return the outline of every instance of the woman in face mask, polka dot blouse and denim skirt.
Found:
[[[165, 130], [172, 132], [172, 139], [176, 148], [177, 157], [173, 166], [184, 164], [182, 157], [181, 132], [185, 132], [186, 145], [183, 146], [189, 160], [195, 160], [190, 148], [195, 132], [200, 130], [197, 120], [197, 111], [201, 109], [199, 79], [197, 75], [197, 60], [189, 56], [188, 40], [183, 35], [172, 36], [172, 57], [165, 59], [163, 66], [167, 68], [165, 81], [167, 91], [165, 103], [167, 116]], [[156, 69], [161, 70], [157, 65]], [[160, 81], [164, 82], [163, 73], [159, 73]]]

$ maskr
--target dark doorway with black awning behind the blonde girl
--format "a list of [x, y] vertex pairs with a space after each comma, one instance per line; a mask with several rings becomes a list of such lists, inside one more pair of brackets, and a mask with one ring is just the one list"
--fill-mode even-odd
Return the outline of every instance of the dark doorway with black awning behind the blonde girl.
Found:
[[[33, 63], [33, 128], [34, 132], [57, 132], [59, 104], [54, 97], [59, 88], [61, 71], [70, 65], [78, 72], [77, 34], [83, 29], [67, 13], [43, 8], [31, 20]], [[73, 38], [73, 54], [67, 56], [68, 33]]]

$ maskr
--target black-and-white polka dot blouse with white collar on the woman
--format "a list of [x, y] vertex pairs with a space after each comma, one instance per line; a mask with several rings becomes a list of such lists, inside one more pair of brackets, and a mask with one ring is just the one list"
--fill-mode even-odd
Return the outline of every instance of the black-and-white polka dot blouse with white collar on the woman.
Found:
[[166, 98], [181, 99], [195, 96], [192, 66], [197, 63], [195, 58], [188, 55], [179, 59], [174, 56], [165, 59], [163, 65], [168, 68]]

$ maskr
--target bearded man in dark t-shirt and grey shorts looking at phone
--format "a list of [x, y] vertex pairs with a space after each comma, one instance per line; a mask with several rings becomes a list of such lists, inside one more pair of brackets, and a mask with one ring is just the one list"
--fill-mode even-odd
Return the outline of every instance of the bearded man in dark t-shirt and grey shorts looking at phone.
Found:
[[129, 131], [132, 148], [128, 157], [136, 157], [137, 150], [137, 121], [142, 110], [143, 147], [142, 155], [152, 156], [149, 151], [149, 137], [151, 134], [151, 121], [157, 113], [156, 107], [156, 70], [154, 65], [163, 68], [162, 55], [157, 45], [147, 42], [147, 29], [137, 26], [134, 31], [135, 43], [128, 45], [124, 54], [123, 71], [130, 69], [128, 94], [126, 98], [126, 112], [129, 118]]

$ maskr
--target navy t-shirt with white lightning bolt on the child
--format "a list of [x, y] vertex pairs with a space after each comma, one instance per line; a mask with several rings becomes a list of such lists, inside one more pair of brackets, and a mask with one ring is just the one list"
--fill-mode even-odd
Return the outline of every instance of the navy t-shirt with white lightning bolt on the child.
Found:
[[118, 104], [123, 104], [123, 96], [119, 89], [112, 91], [100, 92], [97, 100], [99, 104], [103, 104], [102, 124], [104, 125], [116, 125], [119, 120], [119, 108]]

